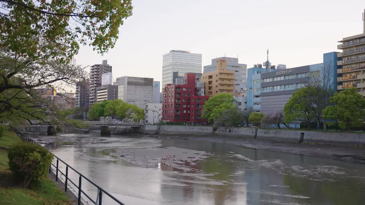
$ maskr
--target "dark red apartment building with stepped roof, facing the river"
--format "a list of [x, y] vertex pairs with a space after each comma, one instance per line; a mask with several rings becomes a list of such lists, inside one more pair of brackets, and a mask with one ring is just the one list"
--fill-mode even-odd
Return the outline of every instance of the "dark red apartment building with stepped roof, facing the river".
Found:
[[162, 90], [162, 121], [205, 125], [201, 110], [209, 96], [198, 96], [195, 74], [186, 73], [184, 85], [166, 84]]

